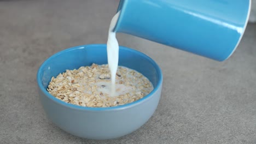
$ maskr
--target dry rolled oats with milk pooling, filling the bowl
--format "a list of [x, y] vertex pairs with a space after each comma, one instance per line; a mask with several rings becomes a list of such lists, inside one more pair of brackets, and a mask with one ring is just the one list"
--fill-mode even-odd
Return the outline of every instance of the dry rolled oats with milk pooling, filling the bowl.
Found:
[[111, 97], [108, 93], [111, 86], [108, 65], [92, 64], [90, 67], [66, 70], [56, 78], [52, 77], [47, 91], [66, 103], [111, 107], [141, 99], [153, 90], [147, 77], [126, 67], [118, 67], [115, 83], [117, 95]]

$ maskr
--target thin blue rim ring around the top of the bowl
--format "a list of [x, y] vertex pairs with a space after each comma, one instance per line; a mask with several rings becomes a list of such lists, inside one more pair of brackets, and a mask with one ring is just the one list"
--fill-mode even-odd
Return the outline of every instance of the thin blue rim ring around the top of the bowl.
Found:
[[[107, 46], [106, 44], [88, 44], [88, 45], [79, 45], [79, 46], [74, 46], [74, 47], [70, 47], [68, 49], [56, 52], [54, 55], [50, 56], [49, 58], [47, 58], [39, 67], [38, 71], [37, 71], [37, 85], [40, 89], [40, 91], [43, 92], [44, 95], [46, 95], [47, 98], [53, 100], [55, 103], [69, 107], [71, 109], [76, 109], [76, 110], [87, 110], [87, 111], [113, 111], [113, 110], [123, 110], [123, 109], [127, 109], [136, 105], [139, 105], [141, 103], [144, 103], [145, 101], [149, 100], [151, 97], [153, 97], [153, 94], [156, 93], [156, 91], [158, 91], [158, 89], [161, 88], [162, 85], [162, 71], [159, 67], [158, 64], [156, 64], [156, 62], [150, 58], [149, 56], [147, 56], [146, 54], [139, 52], [137, 50], [131, 49], [129, 47], [125, 47], [125, 46], [119, 46], [119, 50], [123, 49], [126, 51], [132, 51], [135, 52], [136, 54], [142, 56], [143, 58], [146, 58], [147, 61], [149, 61], [150, 63], [153, 64], [154, 68], [156, 69], [157, 73], [156, 75], [158, 76], [159, 81], [156, 84], [156, 87], [154, 87], [153, 91], [150, 92], [148, 95], [146, 95], [145, 97], [133, 101], [132, 103], [129, 104], [125, 104], [125, 105], [119, 105], [119, 106], [113, 106], [113, 107], [85, 107], [85, 106], [79, 106], [79, 105], [74, 105], [74, 104], [69, 104], [66, 103], [65, 101], [62, 101], [60, 99], [55, 98], [53, 95], [51, 95], [48, 91], [46, 91], [46, 89], [43, 87], [43, 82], [40, 79], [40, 75], [42, 75], [43, 72], [43, 68], [45, 67], [45, 64], [48, 63], [49, 61], [51, 61], [51, 59], [55, 58], [56, 56], [61, 55], [62, 53], [66, 53], [69, 51], [74, 51], [77, 49], [86, 49], [87, 47], [99, 47], [99, 46]], [[161, 90], [160, 90], [161, 91]]]

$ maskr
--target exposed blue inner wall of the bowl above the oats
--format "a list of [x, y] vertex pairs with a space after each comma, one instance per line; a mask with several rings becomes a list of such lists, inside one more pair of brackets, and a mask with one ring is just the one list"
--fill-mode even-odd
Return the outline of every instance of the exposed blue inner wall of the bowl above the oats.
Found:
[[[37, 81], [39, 88], [46, 91], [51, 77], [56, 77], [67, 69], [78, 69], [82, 66], [107, 64], [107, 49], [104, 44], [93, 44], [72, 47], [56, 53], [41, 65], [38, 70]], [[152, 82], [154, 89], [159, 87], [162, 81], [159, 66], [147, 55], [120, 46], [119, 65], [135, 69], [146, 76]], [[44, 88], [44, 89], [43, 89]]]

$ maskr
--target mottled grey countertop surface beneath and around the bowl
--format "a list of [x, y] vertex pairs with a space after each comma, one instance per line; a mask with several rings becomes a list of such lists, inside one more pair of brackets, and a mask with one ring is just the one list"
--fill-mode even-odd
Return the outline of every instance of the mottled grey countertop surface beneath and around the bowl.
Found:
[[153, 117], [107, 141], [80, 139], [49, 121], [39, 103], [37, 69], [60, 50], [106, 43], [118, 2], [0, 1], [0, 143], [256, 143], [255, 24], [225, 62], [117, 34], [120, 45], [146, 53], [162, 69]]

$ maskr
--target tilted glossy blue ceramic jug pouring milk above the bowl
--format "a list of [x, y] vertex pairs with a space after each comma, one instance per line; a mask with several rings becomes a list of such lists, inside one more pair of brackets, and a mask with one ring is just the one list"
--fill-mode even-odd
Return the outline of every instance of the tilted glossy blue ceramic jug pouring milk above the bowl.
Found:
[[245, 31], [251, 0], [121, 0], [115, 32], [224, 61]]

